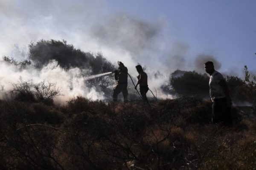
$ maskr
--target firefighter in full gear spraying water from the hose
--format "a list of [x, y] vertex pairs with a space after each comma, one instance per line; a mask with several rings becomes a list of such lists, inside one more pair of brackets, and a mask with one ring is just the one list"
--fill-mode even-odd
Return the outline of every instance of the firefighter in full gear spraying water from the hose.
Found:
[[128, 69], [125, 65], [118, 61], [119, 67], [115, 71], [115, 79], [117, 80], [117, 85], [113, 91], [113, 101], [117, 101], [117, 96], [122, 92], [124, 97], [124, 102], [128, 102], [128, 91], [127, 91], [127, 82], [128, 82]]

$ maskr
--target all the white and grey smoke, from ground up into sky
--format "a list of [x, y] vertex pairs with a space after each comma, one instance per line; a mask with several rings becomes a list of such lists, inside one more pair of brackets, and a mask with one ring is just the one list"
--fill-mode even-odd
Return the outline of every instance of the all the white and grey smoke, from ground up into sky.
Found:
[[[43, 58], [34, 55], [30, 59], [40, 64], [41, 68], [18, 71], [15, 66], [1, 62], [0, 85], [5, 90], [11, 90], [12, 83], [20, 77], [24, 81], [46, 80], [57, 82], [65, 95], [57, 97], [60, 101], [75, 96], [103, 99], [105, 92], [84, 82], [83, 78], [92, 73], [102, 73], [97, 68], [101, 59], [91, 59], [90, 65], [85, 64], [87, 59], [90, 60], [89, 54], [100, 51], [116, 67], [116, 62], [122, 61], [133, 77], [138, 74], [135, 69], [138, 62], [146, 66], [149, 88], [153, 91], [156, 89], [157, 96], [165, 98], [166, 94], [160, 86], [168, 81], [172, 71], [195, 68], [202, 73], [207, 60], [213, 61], [216, 69], [221, 67], [213, 56], [206, 54], [198, 55], [194, 67], [189, 67], [189, 59], [194, 57], [189, 56], [190, 46], [182, 40], [175, 40], [174, 33], [166, 34], [164, 20], [148, 21], [115, 11], [109, 14], [107, 9], [105, 0], [0, 1], [0, 58], [10, 56], [19, 60], [29, 59], [32, 51], [29, 51], [28, 45], [42, 39], [67, 40], [78, 50], [81, 49], [81, 55], [62, 51], [66, 55], [61, 57], [58, 56], [61, 47], [52, 51], [47, 47], [36, 46], [35, 51], [45, 54], [40, 55]], [[71, 55], [76, 57], [71, 59]], [[108, 71], [109, 68], [105, 70]], [[155, 76], [157, 72], [160, 74]]]

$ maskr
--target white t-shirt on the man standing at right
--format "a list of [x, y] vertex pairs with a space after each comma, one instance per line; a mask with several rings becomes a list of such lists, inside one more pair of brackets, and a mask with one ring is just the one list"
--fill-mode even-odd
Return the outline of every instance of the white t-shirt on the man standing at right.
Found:
[[222, 74], [218, 71], [214, 71], [209, 79], [210, 97], [212, 101], [214, 99], [220, 99], [226, 97], [223, 88], [218, 83], [225, 80]]

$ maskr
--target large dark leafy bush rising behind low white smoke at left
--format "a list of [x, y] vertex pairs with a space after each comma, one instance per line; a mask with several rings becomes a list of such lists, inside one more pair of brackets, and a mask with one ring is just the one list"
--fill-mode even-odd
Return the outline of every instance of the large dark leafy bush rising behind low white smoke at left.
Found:
[[56, 60], [62, 68], [91, 69], [92, 74], [113, 71], [114, 66], [101, 53], [96, 57], [90, 52], [83, 52], [67, 44], [65, 40], [40, 40], [29, 45], [29, 59], [38, 68], [47, 65], [52, 59]]

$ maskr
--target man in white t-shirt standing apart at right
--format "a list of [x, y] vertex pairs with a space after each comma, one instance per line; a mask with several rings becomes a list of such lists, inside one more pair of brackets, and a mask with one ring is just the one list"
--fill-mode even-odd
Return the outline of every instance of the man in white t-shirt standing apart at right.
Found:
[[213, 62], [204, 63], [205, 71], [210, 75], [209, 91], [212, 99], [212, 122], [232, 123], [231, 105], [229, 89], [224, 77], [218, 71], [215, 71]]

